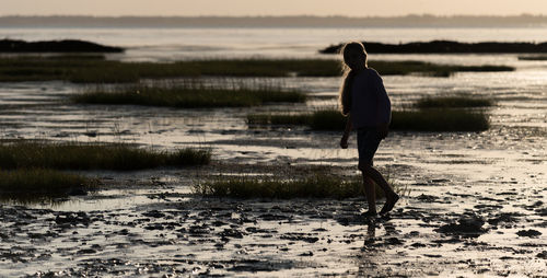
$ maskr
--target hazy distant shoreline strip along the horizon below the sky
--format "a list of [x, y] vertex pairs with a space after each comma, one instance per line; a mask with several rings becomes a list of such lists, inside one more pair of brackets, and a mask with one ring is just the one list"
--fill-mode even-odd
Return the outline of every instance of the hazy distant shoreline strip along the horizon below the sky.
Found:
[[546, 27], [547, 15], [476, 16], [0, 16], [2, 27]]

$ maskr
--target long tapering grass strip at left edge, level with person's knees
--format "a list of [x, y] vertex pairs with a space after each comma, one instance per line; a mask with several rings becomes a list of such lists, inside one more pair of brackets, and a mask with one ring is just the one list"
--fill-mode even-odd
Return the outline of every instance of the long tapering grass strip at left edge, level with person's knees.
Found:
[[0, 169], [141, 170], [158, 166], [201, 165], [209, 150], [151, 151], [129, 144], [15, 142], [0, 146]]

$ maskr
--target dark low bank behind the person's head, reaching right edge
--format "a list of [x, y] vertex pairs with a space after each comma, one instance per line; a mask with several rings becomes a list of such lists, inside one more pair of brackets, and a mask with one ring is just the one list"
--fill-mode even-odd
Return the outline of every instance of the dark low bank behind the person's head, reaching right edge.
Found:
[[[383, 44], [362, 42], [366, 51], [374, 54], [523, 54], [547, 53], [547, 43], [459, 43], [454, 40]], [[319, 49], [321, 54], [339, 54], [344, 44]]]

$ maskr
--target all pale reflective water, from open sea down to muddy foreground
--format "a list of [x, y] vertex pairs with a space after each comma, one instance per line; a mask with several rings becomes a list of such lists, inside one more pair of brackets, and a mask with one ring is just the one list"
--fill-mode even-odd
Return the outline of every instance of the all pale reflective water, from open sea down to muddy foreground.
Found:
[[[109, 58], [151, 61], [225, 57], [325, 57], [317, 54], [317, 49], [348, 39], [384, 43], [430, 39], [542, 42], [544, 34], [544, 28], [0, 28], [0, 37], [30, 40], [80, 38], [125, 46], [128, 47], [126, 54], [109, 55]], [[200, 170], [198, 174], [196, 172], [199, 171], [195, 169], [124, 174], [86, 173], [107, 177], [108, 185], [121, 190], [102, 190], [86, 197], [72, 198], [53, 208], [47, 205], [33, 206], [51, 208], [53, 212], [31, 210], [27, 207], [13, 209], [20, 211], [21, 217], [10, 218], [10, 213], [2, 213], [5, 218], [2, 232], [9, 235], [2, 238], [5, 245], [2, 252], [8, 254], [10, 248], [23, 246], [20, 254], [12, 252], [13, 257], [23, 257], [30, 263], [19, 262], [13, 267], [12, 260], [1, 262], [0, 276], [23, 276], [45, 269], [75, 271], [73, 275], [96, 271], [93, 274], [129, 276], [136, 275], [131, 271], [137, 268], [139, 271], [147, 267], [160, 269], [165, 264], [196, 274], [264, 274], [253, 273], [252, 268], [243, 270], [246, 273], [235, 274], [228, 269], [244, 264], [246, 259], [268, 264], [277, 262], [275, 269], [267, 273], [271, 276], [283, 276], [283, 271], [295, 276], [366, 275], [376, 273], [379, 268], [385, 268], [381, 271], [384, 276], [397, 276], [393, 271], [405, 276], [542, 274], [545, 264], [536, 256], [545, 244], [526, 244], [532, 241], [546, 242], [547, 234], [545, 220], [539, 215], [545, 213], [540, 209], [545, 208], [542, 204], [545, 204], [547, 185], [547, 61], [522, 61], [517, 56], [371, 54], [371, 59], [382, 60], [491, 63], [516, 68], [512, 72], [466, 72], [450, 78], [383, 77], [395, 109], [422, 96], [455, 93], [493, 99], [496, 106], [488, 111], [492, 125], [488, 131], [393, 131], [382, 142], [375, 157], [376, 165], [382, 171], [392, 171], [393, 181], [408, 186], [411, 194], [397, 205], [400, 211], [394, 213], [393, 220], [373, 227], [372, 235], [368, 234], [370, 231], [365, 231], [362, 222], [354, 221], [348, 225], [342, 221], [354, 217], [353, 211], [356, 207], [363, 205], [362, 200], [219, 200], [214, 204], [217, 200], [203, 202], [182, 197], [186, 196], [184, 194], [190, 190], [195, 181], [203, 176], [236, 172], [256, 174], [264, 170], [260, 165], [354, 166], [354, 137], [350, 139], [350, 149], [340, 150], [339, 132], [312, 132], [303, 127], [248, 128], [245, 123], [248, 113], [313, 111], [334, 106], [338, 78], [243, 78], [242, 82], [279, 83], [304, 90], [312, 96], [306, 104], [265, 105], [245, 109], [74, 105], [66, 100], [81, 91], [81, 85], [59, 81], [0, 83], [2, 138], [83, 142], [121, 140], [168, 150], [187, 146], [210, 147], [214, 163], [218, 163]], [[206, 82], [222, 81], [206, 79]], [[258, 170], [253, 172], [255, 166]], [[276, 175], [282, 172], [276, 171]], [[347, 172], [354, 174], [351, 170]], [[151, 187], [150, 183], [149, 186], [136, 186], [146, 185], [152, 179], [151, 176], [168, 177], [168, 183], [160, 187]], [[419, 196], [432, 196], [437, 201], [424, 201]], [[211, 210], [211, 207], [222, 206], [225, 208]], [[276, 209], [290, 216], [289, 220], [265, 221], [260, 218]], [[171, 220], [143, 215], [154, 210], [172, 216]], [[245, 217], [232, 213], [240, 210], [240, 215]], [[85, 211], [95, 220], [90, 227], [79, 224], [69, 229], [59, 228], [55, 217], [62, 211]], [[499, 213], [514, 211], [520, 213], [517, 221], [499, 227], [486, 224], [491, 230], [478, 240], [435, 243], [447, 238], [434, 232], [434, 229], [456, 221], [464, 213], [479, 215], [489, 220]], [[249, 218], [254, 222], [245, 222], [240, 218]], [[213, 227], [213, 223], [209, 223], [218, 219], [225, 224]], [[207, 224], [209, 235], [198, 238], [184, 230], [191, 230], [198, 224]], [[232, 224], [230, 229], [241, 231], [254, 231], [246, 229], [258, 228], [271, 232], [267, 232], [267, 236], [264, 236], [264, 232], [256, 235], [248, 232], [242, 239], [224, 242], [224, 236], [219, 234], [225, 232], [228, 224]], [[174, 231], [171, 225], [184, 229]], [[154, 230], [156, 227], [160, 230]], [[533, 240], [515, 235], [524, 229], [535, 229], [543, 235]], [[22, 233], [22, 230], [28, 231], [28, 234]], [[57, 234], [44, 233], [49, 230]], [[295, 244], [283, 239], [283, 235], [295, 231], [317, 236], [319, 241], [301, 241]], [[34, 232], [44, 235], [36, 235]], [[389, 236], [405, 242], [401, 245], [385, 243], [370, 247], [365, 241], [363, 246], [365, 235], [379, 236], [379, 242]], [[31, 239], [33, 244], [28, 245]], [[328, 239], [334, 241], [327, 243]], [[424, 246], [419, 247], [419, 244]], [[323, 250], [324, 247], [328, 250]], [[96, 253], [85, 253], [90, 248]], [[84, 252], [80, 253], [81, 251]], [[302, 256], [310, 251], [313, 251], [313, 256]], [[371, 256], [374, 252], [382, 255]], [[31, 255], [25, 257], [22, 254]], [[534, 258], [531, 259], [532, 257]], [[121, 258], [121, 264], [106, 264], [106, 260], [101, 260], [103, 258]], [[182, 262], [182, 258], [185, 260]], [[224, 262], [225, 258], [235, 258], [235, 263]], [[474, 258], [473, 265], [465, 263], [467, 258]], [[291, 262], [296, 263], [291, 267]], [[226, 267], [214, 268], [214, 265], [221, 263]], [[105, 264], [104, 269], [101, 268], [102, 264]], [[283, 270], [286, 268], [290, 269]]]

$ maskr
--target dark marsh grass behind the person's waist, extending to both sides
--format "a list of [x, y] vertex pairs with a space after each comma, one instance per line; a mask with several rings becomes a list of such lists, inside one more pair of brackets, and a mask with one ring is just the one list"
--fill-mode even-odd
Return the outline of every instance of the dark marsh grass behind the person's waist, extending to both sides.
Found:
[[[474, 97], [422, 99], [417, 108], [393, 111], [389, 128], [403, 131], [484, 131], [490, 127], [481, 111], [466, 107], [487, 107], [492, 102]], [[307, 126], [312, 130], [344, 130], [347, 118], [337, 109], [306, 114], [249, 114], [247, 125]]]

